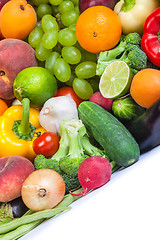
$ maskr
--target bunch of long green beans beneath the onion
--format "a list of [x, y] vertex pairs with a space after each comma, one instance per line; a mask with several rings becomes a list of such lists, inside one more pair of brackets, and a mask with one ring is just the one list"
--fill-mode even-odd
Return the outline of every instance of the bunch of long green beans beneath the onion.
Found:
[[[77, 194], [81, 191], [82, 189], [78, 189], [74, 192]], [[71, 207], [68, 206], [78, 198], [79, 197], [68, 194], [53, 209], [47, 209], [40, 212], [33, 212], [32, 210], [29, 210], [22, 217], [14, 219], [14, 221], [0, 224], [0, 239], [15, 240], [19, 237], [22, 237], [27, 232], [31, 231], [33, 228], [41, 224], [46, 218], [51, 218], [65, 210], [71, 209]]]

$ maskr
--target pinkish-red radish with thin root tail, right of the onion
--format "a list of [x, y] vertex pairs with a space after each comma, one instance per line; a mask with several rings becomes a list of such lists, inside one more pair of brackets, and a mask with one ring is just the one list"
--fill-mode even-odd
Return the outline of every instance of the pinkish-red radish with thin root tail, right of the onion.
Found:
[[89, 190], [101, 187], [106, 184], [112, 174], [112, 167], [108, 159], [99, 156], [88, 157], [80, 164], [78, 169], [78, 179], [83, 188], [79, 194], [70, 194], [74, 196], [83, 196]]

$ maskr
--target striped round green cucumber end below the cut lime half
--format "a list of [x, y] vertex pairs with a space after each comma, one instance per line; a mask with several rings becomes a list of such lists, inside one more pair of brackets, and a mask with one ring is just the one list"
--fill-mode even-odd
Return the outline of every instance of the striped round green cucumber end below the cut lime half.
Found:
[[136, 119], [145, 112], [145, 108], [139, 106], [131, 96], [115, 99], [112, 111], [119, 120], [129, 121]]

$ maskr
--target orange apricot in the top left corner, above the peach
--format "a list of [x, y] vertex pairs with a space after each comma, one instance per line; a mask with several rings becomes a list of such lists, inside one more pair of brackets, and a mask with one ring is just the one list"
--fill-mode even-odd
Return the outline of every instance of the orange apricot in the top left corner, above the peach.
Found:
[[5, 38], [24, 40], [36, 23], [36, 12], [26, 0], [11, 0], [1, 9], [0, 29]]

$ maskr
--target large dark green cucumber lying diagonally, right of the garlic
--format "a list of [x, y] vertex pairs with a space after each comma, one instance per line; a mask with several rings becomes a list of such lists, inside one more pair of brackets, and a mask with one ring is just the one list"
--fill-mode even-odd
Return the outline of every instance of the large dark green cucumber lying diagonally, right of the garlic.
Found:
[[89, 101], [79, 105], [78, 113], [86, 129], [111, 160], [127, 167], [139, 159], [140, 149], [134, 137], [111, 113]]

